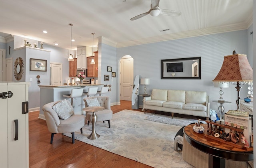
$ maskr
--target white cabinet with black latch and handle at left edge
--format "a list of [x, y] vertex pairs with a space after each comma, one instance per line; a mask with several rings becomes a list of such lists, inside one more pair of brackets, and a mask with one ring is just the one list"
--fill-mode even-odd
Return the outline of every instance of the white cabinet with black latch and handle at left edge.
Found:
[[28, 168], [28, 84], [0, 83], [0, 168]]

